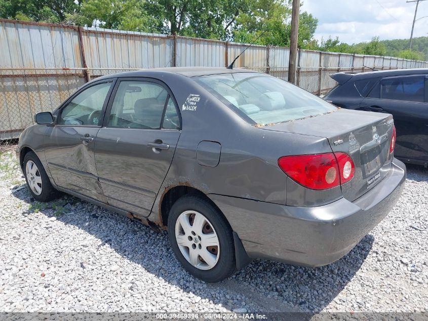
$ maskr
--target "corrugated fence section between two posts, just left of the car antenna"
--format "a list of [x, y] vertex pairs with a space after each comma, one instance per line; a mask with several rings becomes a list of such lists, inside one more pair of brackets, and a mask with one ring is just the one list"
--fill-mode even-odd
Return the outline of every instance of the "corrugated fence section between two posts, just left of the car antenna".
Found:
[[225, 42], [186, 37], [177, 37], [176, 39], [177, 67], [225, 66]]

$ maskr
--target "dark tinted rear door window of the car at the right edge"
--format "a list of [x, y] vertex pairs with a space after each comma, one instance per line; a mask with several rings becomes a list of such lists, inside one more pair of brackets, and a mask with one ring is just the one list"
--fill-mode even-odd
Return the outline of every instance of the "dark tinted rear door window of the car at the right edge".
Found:
[[381, 98], [423, 102], [424, 76], [383, 79], [381, 83]]

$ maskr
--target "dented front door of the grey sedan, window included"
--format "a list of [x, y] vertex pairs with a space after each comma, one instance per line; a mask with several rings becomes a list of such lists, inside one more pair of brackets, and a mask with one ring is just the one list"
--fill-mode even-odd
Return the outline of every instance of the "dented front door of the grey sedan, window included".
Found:
[[66, 102], [55, 126], [48, 127], [50, 143], [45, 150], [55, 184], [106, 202], [98, 183], [95, 166], [95, 137], [113, 80], [85, 87]]

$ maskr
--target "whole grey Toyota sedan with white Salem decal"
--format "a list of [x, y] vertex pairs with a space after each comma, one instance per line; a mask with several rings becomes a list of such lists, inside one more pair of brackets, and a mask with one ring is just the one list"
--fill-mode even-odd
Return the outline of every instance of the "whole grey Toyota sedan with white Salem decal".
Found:
[[340, 110], [244, 69], [104, 76], [35, 121], [16, 156], [36, 200], [61, 191], [167, 229], [177, 259], [208, 282], [253, 258], [338, 260], [406, 177], [391, 115]]

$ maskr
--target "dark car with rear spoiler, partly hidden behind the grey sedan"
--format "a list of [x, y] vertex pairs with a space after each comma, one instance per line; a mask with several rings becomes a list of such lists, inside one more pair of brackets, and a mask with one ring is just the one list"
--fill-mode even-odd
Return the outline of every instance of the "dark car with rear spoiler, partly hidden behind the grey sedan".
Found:
[[346, 109], [388, 113], [397, 128], [394, 155], [428, 166], [428, 69], [337, 73], [324, 99]]

